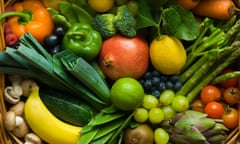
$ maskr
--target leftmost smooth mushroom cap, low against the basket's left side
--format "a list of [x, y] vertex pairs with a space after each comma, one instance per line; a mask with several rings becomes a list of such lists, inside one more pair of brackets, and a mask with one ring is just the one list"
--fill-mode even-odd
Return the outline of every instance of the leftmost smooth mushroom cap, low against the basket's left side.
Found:
[[4, 117], [4, 127], [8, 131], [16, 128], [16, 114], [13, 111], [8, 111]]

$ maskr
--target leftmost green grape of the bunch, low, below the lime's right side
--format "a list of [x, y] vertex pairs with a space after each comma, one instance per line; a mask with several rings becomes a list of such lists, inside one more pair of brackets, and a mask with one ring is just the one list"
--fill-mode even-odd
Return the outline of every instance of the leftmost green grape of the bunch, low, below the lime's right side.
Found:
[[148, 110], [145, 108], [136, 108], [133, 113], [136, 122], [144, 123], [148, 120]]

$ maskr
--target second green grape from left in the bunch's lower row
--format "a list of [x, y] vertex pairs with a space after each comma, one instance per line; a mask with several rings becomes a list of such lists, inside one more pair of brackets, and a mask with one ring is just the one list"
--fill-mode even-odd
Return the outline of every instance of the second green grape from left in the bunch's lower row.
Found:
[[159, 124], [164, 120], [164, 112], [159, 107], [154, 107], [149, 110], [148, 119], [152, 124]]

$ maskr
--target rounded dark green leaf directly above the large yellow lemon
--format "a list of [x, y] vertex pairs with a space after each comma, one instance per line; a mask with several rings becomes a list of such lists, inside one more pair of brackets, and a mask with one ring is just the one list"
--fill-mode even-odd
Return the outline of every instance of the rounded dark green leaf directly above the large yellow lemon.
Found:
[[162, 11], [162, 29], [169, 35], [174, 35], [181, 24], [181, 16], [177, 10], [170, 7]]

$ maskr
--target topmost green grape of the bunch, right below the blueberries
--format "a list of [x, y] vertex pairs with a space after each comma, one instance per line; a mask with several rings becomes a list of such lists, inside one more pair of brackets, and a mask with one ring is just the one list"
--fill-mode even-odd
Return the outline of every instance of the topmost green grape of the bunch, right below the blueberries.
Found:
[[172, 89], [164, 90], [159, 97], [159, 102], [162, 105], [170, 105], [175, 97], [175, 92]]

